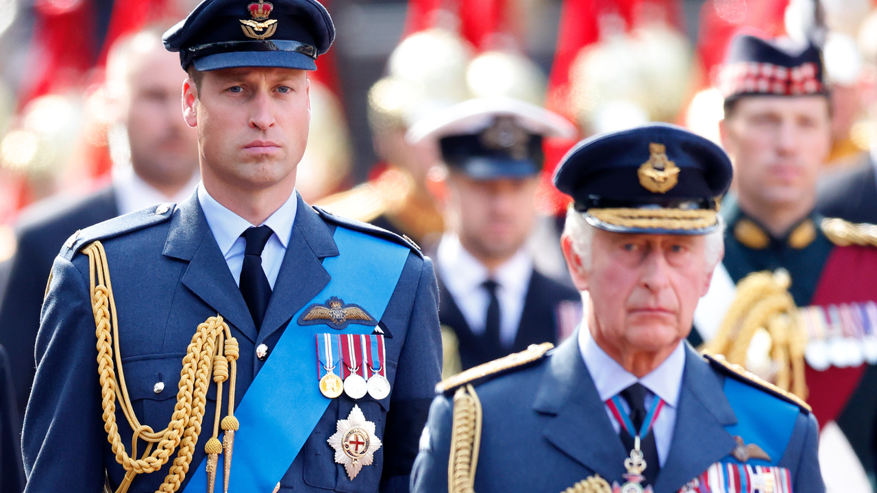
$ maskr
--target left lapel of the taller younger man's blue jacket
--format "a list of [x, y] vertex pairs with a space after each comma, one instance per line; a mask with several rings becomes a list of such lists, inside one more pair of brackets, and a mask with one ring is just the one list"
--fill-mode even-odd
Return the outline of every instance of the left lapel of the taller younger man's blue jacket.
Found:
[[182, 275], [183, 285], [238, 327], [247, 339], [255, 341], [253, 318], [210, 232], [196, 193], [174, 211], [163, 254], [188, 261], [189, 267]]

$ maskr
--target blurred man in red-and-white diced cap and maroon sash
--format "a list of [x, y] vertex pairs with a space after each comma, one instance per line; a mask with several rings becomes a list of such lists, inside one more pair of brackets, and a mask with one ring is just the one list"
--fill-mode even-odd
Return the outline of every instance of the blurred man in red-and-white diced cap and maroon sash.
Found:
[[[724, 200], [724, 260], [697, 306], [689, 340], [705, 340], [708, 351], [806, 398], [822, 428], [828, 489], [869, 491], [866, 473], [873, 474], [877, 458], [877, 360], [866, 361], [863, 336], [877, 320], [859, 304], [877, 300], [877, 249], [867, 246], [874, 238], [866, 231], [824, 222], [814, 210], [816, 181], [831, 149], [820, 50], [809, 42], [738, 35], [719, 89], [720, 132], [735, 166], [736, 193]], [[747, 275], [776, 269], [783, 269], [777, 282], [791, 311], [772, 325], [767, 317], [754, 319], [765, 311], [742, 310], [739, 303], [763, 297]], [[814, 322], [798, 325], [804, 318], [795, 305]], [[769, 313], [778, 306], [762, 308]], [[767, 330], [756, 338], [744, 326]], [[843, 350], [827, 348], [836, 337]], [[791, 376], [782, 376], [789, 365]]]

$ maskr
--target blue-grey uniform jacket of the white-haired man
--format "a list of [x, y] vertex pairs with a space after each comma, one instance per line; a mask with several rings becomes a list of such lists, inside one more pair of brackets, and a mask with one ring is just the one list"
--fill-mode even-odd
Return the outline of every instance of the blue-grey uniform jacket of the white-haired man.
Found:
[[[576, 335], [570, 337], [530, 365], [475, 382], [483, 421], [474, 491], [559, 493], [593, 475], [610, 484], [624, 483], [624, 459], [629, 451], [624, 450], [612, 428], [577, 339]], [[704, 473], [728, 471], [726, 466], [715, 465], [719, 461], [738, 462], [731, 457], [738, 444], [726, 429], [738, 422], [732, 409], [735, 403], [724, 392], [724, 384], [731, 378], [720, 365], [709, 364], [687, 347], [673, 442], [654, 484], [655, 493], [707, 491]], [[774, 453], [774, 467], [788, 469], [788, 475], [778, 477], [787, 477], [795, 493], [823, 492], [816, 459], [816, 420], [795, 404], [744, 385], [770, 404], [755, 417], [757, 426], [777, 426], [771, 413], [774, 405], [785, 406], [786, 411], [793, 406], [788, 439], [757, 444]], [[411, 489], [417, 493], [448, 491], [452, 395], [453, 389], [432, 403], [411, 474]], [[759, 464], [765, 462], [748, 461], [749, 466]], [[777, 484], [774, 491], [783, 489]]]

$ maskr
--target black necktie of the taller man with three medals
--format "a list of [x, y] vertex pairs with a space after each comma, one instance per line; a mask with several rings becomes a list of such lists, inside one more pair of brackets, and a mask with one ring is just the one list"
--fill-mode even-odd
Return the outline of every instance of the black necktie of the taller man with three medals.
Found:
[[271, 228], [259, 226], [247, 228], [241, 234], [246, 240], [244, 265], [240, 268], [240, 294], [244, 296], [246, 307], [250, 309], [256, 331], [262, 326], [268, 300], [271, 299], [271, 284], [262, 268], [262, 250], [271, 238]]

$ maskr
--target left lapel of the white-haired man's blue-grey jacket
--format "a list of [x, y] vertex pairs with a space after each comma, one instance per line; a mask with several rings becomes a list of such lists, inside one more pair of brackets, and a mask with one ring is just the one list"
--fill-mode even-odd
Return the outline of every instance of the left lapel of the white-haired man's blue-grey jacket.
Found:
[[554, 416], [545, 439], [596, 474], [620, 482], [627, 454], [581, 359], [578, 333], [554, 350], [533, 409]]

